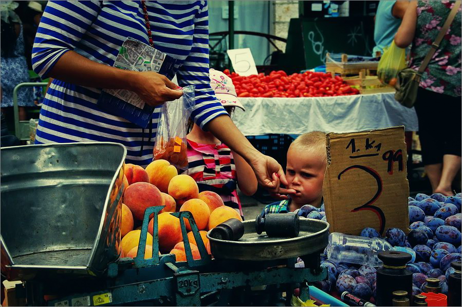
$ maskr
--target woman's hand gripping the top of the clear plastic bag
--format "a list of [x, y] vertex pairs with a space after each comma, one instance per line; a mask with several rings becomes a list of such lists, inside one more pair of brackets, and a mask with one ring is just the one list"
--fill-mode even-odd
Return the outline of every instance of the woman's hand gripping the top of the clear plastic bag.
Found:
[[132, 79], [133, 91], [150, 106], [162, 105], [183, 95], [178, 86], [166, 76], [152, 71], [138, 72], [137, 78]]

